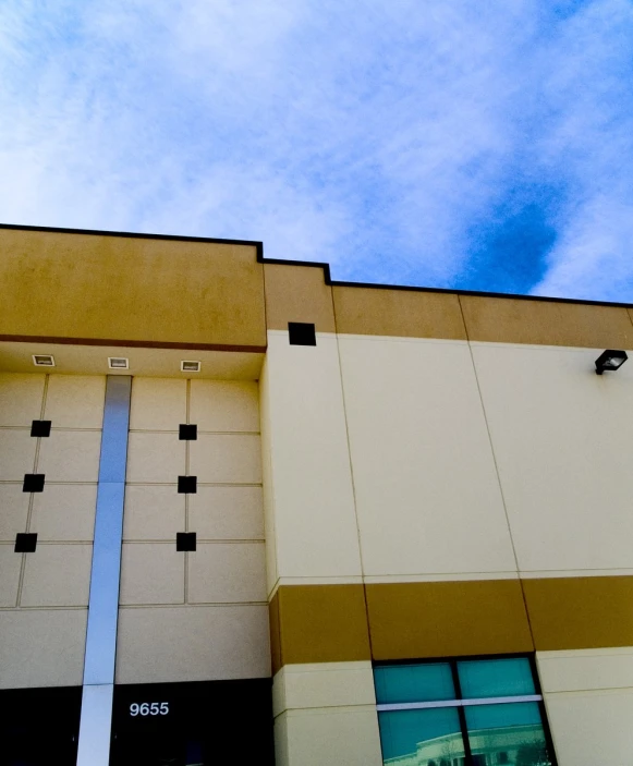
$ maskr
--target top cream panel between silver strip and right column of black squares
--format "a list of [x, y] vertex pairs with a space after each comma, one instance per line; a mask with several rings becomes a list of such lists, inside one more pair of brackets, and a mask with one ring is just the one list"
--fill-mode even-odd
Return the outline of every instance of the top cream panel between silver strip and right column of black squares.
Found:
[[130, 428], [178, 430], [181, 423], [186, 423], [186, 380], [132, 380]]

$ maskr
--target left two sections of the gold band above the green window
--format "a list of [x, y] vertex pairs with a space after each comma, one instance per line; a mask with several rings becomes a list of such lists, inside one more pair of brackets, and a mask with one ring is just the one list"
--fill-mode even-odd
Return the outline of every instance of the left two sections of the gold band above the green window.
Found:
[[366, 598], [367, 608], [363, 585], [281, 586], [270, 605], [273, 672], [295, 662], [534, 648], [516, 580], [367, 585]]

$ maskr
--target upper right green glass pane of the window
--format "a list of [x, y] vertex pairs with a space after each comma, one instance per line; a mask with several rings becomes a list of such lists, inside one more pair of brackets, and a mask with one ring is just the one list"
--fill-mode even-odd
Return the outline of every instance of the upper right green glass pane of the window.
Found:
[[525, 657], [458, 662], [458, 672], [464, 700], [536, 694], [529, 660]]

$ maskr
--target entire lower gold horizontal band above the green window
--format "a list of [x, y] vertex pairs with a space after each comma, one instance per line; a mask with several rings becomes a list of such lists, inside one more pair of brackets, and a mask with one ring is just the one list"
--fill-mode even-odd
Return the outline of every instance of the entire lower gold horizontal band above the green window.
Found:
[[633, 645], [633, 576], [282, 585], [272, 665]]

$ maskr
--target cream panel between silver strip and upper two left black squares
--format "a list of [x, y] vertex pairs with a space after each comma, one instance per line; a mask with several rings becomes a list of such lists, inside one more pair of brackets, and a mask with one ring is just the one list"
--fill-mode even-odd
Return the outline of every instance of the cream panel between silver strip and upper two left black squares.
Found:
[[41, 439], [37, 473], [46, 474], [47, 482], [96, 482], [100, 451], [98, 430], [51, 431]]

